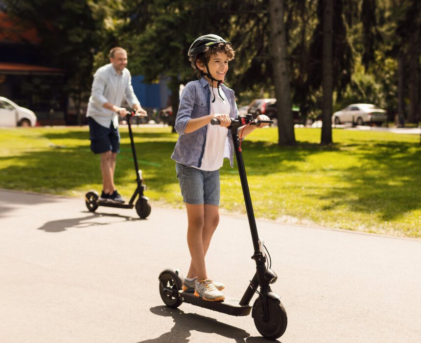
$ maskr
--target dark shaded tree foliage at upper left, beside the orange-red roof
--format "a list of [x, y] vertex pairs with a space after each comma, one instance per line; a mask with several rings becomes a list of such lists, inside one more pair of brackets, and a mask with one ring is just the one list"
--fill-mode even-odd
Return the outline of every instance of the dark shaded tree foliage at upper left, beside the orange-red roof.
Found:
[[35, 28], [46, 64], [65, 71], [64, 92], [80, 106], [91, 87], [94, 49], [100, 45], [101, 17], [94, 17], [88, 0], [4, 0], [18, 25]]

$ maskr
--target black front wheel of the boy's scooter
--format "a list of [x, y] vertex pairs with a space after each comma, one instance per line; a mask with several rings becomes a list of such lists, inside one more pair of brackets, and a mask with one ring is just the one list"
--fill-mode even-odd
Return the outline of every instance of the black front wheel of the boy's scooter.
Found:
[[286, 330], [286, 311], [278, 299], [266, 298], [267, 320], [264, 318], [263, 299], [259, 296], [252, 310], [257, 331], [268, 340], [280, 338]]

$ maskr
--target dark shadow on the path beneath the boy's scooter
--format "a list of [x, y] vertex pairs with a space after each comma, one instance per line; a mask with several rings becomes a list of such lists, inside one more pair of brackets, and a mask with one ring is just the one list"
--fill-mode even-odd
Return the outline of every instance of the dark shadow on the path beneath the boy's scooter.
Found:
[[233, 339], [237, 343], [279, 343], [279, 341], [268, 341], [262, 337], [250, 337], [248, 332], [237, 327], [221, 323], [216, 319], [211, 319], [192, 313], [184, 313], [179, 309], [172, 309], [166, 306], [156, 306], [150, 308], [150, 311], [154, 315], [172, 317], [174, 326], [170, 332], [166, 332], [158, 338], [141, 341], [138, 343], [187, 343], [190, 341], [188, 337], [191, 335], [191, 330], [217, 334], [226, 338]]

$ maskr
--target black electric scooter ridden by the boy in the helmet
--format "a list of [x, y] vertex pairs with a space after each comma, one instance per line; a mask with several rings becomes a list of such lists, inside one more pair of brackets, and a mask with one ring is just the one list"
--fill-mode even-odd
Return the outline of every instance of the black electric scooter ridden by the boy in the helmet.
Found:
[[[256, 262], [256, 273], [243, 297], [238, 301], [226, 296], [225, 300], [216, 302], [195, 297], [193, 293], [183, 292], [183, 276], [178, 269], [166, 269], [161, 272], [159, 275], [159, 291], [165, 305], [171, 308], [177, 308], [183, 302], [187, 302], [231, 316], [247, 316], [252, 312], [258, 332], [267, 339], [276, 340], [285, 332], [287, 325], [286, 311], [280, 301], [281, 296], [273, 293], [270, 288], [270, 285], [278, 279], [278, 276], [270, 269], [270, 255], [263, 244], [263, 240], [259, 239], [257, 234], [256, 220], [241, 151], [241, 133], [240, 137], [237, 133], [239, 126], [259, 123], [273, 123], [273, 121], [256, 120], [253, 119], [252, 115], [248, 114], [246, 117], [232, 120], [231, 126], [228, 127], [233, 136], [235, 158], [255, 250], [252, 259]], [[218, 125], [220, 123], [217, 119], [212, 119], [211, 124]], [[266, 266], [266, 262], [268, 262], [268, 266]], [[255, 293], [258, 294], [258, 297], [252, 307], [250, 306], [250, 301]]]

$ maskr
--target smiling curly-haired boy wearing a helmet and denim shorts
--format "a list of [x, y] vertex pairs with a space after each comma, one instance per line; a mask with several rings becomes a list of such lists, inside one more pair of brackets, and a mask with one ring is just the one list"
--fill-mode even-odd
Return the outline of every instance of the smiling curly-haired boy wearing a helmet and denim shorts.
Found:
[[[231, 118], [238, 116], [237, 105], [234, 91], [222, 84], [234, 55], [231, 43], [214, 34], [201, 36], [190, 46], [189, 61], [200, 79], [188, 82], [181, 95], [175, 121], [180, 136], [171, 156], [176, 161], [188, 221], [191, 263], [183, 290], [194, 290], [195, 296], [209, 301], [225, 299], [221, 292], [224, 285], [208, 278], [205, 255], [219, 222], [219, 168], [225, 157], [230, 159], [231, 167], [234, 165], [233, 139], [227, 127]], [[212, 118], [221, 124], [211, 125]], [[264, 115], [258, 119], [269, 120]], [[245, 127], [243, 136], [256, 128]]]

